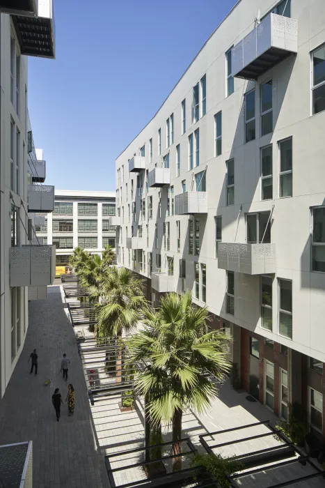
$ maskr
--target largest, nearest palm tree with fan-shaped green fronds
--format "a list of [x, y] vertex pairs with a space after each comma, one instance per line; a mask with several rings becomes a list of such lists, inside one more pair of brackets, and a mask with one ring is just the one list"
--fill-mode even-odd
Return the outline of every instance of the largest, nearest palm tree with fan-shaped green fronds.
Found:
[[[173, 454], [181, 454], [182, 413], [207, 409], [218, 391], [207, 372], [221, 379], [230, 369], [230, 336], [223, 330], [208, 331], [207, 307], [197, 307], [191, 292], [169, 293], [159, 310], [143, 310], [145, 329], [127, 340], [129, 362], [142, 363], [135, 379], [138, 392], [150, 394], [148, 409], [153, 425], [173, 425]], [[173, 458], [173, 470], [181, 457]]]

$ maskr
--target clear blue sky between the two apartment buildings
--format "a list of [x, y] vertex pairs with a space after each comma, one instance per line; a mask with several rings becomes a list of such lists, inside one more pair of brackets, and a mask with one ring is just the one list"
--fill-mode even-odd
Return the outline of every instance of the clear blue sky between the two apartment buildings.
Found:
[[29, 58], [46, 183], [115, 190], [115, 159], [237, 0], [55, 0], [56, 59]]

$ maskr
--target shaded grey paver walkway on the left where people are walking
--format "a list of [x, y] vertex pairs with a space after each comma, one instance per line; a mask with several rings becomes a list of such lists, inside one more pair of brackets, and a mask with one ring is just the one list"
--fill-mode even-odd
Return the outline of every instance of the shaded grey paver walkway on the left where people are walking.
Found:
[[[0, 402], [0, 445], [33, 441], [33, 487], [106, 488], [104, 459], [97, 450], [84, 374], [75, 334], [67, 318], [60, 287], [48, 287], [47, 300], [29, 302], [29, 329], [24, 349]], [[27, 364], [38, 353], [38, 376]], [[68, 383], [75, 389], [74, 416], [67, 404], [56, 422], [51, 395], [60, 388], [65, 399], [68, 385], [61, 374], [61, 357], [71, 360]], [[51, 386], [44, 381], [52, 378]]]

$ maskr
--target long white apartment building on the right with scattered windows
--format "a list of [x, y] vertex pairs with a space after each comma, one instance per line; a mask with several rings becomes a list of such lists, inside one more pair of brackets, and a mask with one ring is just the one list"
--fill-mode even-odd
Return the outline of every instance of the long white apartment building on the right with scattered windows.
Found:
[[241, 385], [325, 433], [325, 3], [240, 0], [116, 160], [118, 263], [193, 290]]

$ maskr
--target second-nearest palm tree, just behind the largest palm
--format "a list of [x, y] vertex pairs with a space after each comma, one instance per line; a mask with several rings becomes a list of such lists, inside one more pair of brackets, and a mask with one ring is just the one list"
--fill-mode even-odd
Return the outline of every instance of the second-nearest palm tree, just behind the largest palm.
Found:
[[143, 281], [131, 270], [113, 266], [102, 280], [103, 305], [98, 313], [98, 330], [102, 337], [117, 337], [116, 382], [122, 381], [122, 347], [123, 333], [136, 328], [145, 305]]

